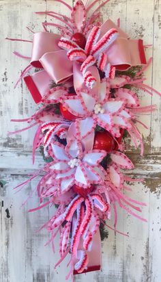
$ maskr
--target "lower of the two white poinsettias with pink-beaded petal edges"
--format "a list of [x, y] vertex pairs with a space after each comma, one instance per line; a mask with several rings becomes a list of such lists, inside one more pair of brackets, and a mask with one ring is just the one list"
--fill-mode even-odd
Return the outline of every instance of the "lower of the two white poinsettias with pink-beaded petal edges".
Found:
[[106, 156], [105, 151], [83, 152], [81, 144], [77, 143], [73, 148], [73, 142], [66, 147], [58, 142], [51, 146], [54, 161], [45, 169], [50, 177], [46, 183], [48, 192], [44, 196], [55, 194], [56, 191], [63, 194], [74, 184], [85, 188], [91, 184], [103, 183], [106, 172], [100, 162]]

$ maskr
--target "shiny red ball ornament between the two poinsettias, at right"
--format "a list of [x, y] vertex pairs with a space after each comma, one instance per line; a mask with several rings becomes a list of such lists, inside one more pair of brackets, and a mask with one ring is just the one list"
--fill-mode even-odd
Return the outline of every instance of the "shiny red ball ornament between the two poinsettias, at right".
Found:
[[93, 149], [104, 150], [111, 153], [115, 148], [115, 140], [108, 131], [98, 131], [95, 134]]

